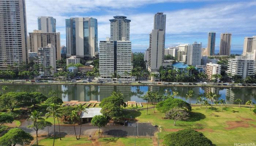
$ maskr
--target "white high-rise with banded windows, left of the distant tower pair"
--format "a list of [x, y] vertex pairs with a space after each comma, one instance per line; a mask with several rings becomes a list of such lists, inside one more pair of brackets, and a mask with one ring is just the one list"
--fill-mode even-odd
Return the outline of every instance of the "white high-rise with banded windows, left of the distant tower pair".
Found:
[[193, 66], [201, 65], [201, 50], [202, 43], [194, 42], [193, 44], [189, 44], [187, 53], [187, 64]]

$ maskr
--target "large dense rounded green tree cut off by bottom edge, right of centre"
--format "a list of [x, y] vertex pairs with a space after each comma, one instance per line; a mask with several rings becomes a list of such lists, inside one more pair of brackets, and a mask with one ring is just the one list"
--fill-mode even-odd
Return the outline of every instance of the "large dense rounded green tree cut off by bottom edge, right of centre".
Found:
[[184, 129], [165, 135], [166, 146], [212, 146], [210, 139], [193, 129]]

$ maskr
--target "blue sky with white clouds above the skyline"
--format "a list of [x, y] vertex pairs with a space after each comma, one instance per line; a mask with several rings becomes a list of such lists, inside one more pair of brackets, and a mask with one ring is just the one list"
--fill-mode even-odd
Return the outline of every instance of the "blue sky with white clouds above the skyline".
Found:
[[38, 16], [56, 18], [61, 45], [66, 45], [65, 19], [93, 17], [98, 19], [98, 40], [110, 35], [113, 16], [131, 20], [133, 51], [144, 51], [149, 44], [154, 14], [166, 14], [166, 47], [202, 42], [207, 46], [207, 32], [216, 32], [219, 49], [221, 32], [231, 32], [231, 50], [242, 50], [244, 37], [256, 35], [256, 1], [165, 1], [165, 0], [26, 0], [27, 29], [38, 29]]

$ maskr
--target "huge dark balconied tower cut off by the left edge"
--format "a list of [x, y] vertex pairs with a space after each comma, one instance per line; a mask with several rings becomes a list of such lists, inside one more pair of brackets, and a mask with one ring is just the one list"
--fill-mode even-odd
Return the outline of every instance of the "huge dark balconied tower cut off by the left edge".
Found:
[[0, 70], [27, 62], [25, 0], [0, 0]]

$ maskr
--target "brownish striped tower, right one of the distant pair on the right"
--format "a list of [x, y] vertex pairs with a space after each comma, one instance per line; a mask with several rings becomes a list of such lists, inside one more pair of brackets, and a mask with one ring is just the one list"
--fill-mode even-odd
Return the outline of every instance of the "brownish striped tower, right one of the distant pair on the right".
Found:
[[219, 55], [230, 55], [231, 50], [231, 35], [230, 33], [221, 33], [221, 41], [219, 45]]

